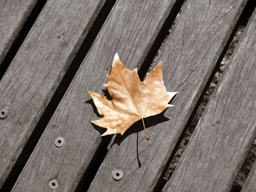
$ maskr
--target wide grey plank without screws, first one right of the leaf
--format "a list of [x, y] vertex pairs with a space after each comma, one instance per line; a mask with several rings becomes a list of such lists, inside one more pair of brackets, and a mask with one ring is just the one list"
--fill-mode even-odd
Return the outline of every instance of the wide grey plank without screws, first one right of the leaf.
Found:
[[228, 192], [256, 137], [256, 11], [166, 191]]

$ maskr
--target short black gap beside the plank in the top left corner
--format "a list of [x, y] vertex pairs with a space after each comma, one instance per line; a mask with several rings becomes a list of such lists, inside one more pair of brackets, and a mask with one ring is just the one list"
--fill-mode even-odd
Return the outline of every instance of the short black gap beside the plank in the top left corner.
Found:
[[15, 57], [16, 53], [20, 49], [20, 46], [22, 45], [23, 41], [25, 40], [26, 36], [28, 35], [31, 27], [35, 23], [35, 20], [37, 19], [38, 15], [40, 14], [40, 12], [43, 9], [46, 2], [47, 2], [47, 0], [38, 0], [38, 2], [35, 4], [34, 8], [32, 9], [29, 17], [25, 21], [23, 27], [20, 29], [19, 34], [13, 41], [12, 46], [10, 47], [10, 49], [6, 53], [6, 56], [4, 57], [2, 63], [0, 64], [0, 80], [3, 78], [4, 73], [6, 73], [6, 70], [8, 69], [13, 58]]

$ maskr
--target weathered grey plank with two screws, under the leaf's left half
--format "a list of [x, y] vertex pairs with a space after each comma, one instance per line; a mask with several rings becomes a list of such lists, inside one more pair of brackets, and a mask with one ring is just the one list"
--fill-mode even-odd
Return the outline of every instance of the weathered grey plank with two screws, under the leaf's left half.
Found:
[[[90, 123], [99, 117], [86, 92], [102, 93], [115, 52], [128, 68], [140, 67], [174, 3], [174, 0], [116, 1], [13, 191], [35, 188], [48, 191], [51, 179], [58, 180], [59, 191], [76, 189], [101, 143], [97, 130], [105, 131]], [[60, 136], [65, 144], [57, 148], [54, 140]]]

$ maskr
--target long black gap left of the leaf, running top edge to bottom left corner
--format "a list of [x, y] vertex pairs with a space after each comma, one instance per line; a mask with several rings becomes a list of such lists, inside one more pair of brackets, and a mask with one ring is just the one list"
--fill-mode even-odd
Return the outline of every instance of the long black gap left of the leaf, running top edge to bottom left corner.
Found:
[[[96, 20], [94, 21], [90, 31], [88, 32], [86, 38], [81, 44], [81, 47], [76, 53], [76, 56], [71, 62], [67, 72], [65, 73], [63, 79], [58, 85], [58, 88], [56, 89], [54, 95], [52, 96], [52, 99], [47, 105], [47, 108], [45, 109], [37, 125], [35, 126], [34, 131], [32, 132], [31, 136], [29, 137], [29, 140], [27, 141], [15, 165], [13, 166], [12, 171], [9, 173], [9, 176], [7, 177], [5, 183], [3, 184], [3, 187], [0, 189], [0, 192], [6, 192], [6, 191], [12, 190], [12, 187], [14, 186], [18, 176], [20, 175], [21, 171], [26, 165], [29, 159], [29, 156], [34, 150], [36, 144], [38, 143], [38, 140], [40, 139], [45, 128], [47, 127], [52, 115], [54, 114], [56, 108], [61, 102], [62, 97], [64, 96], [65, 92], [67, 91], [67, 88], [69, 87], [71, 81], [76, 75], [77, 70], [79, 69], [82, 61], [87, 55], [87, 52], [89, 51], [91, 45], [93, 44], [93, 41], [95, 40], [100, 29], [102, 28], [102, 25], [105, 22], [106, 18], [108, 17], [108, 14], [110, 13], [115, 2], [116, 0], [107, 0], [105, 2], [104, 6], [99, 12], [99, 15], [96, 17]], [[105, 143], [105, 142], [106, 142], [105, 140], [102, 141], [102, 143]], [[101, 144], [100, 146], [105, 146], [105, 145]]]

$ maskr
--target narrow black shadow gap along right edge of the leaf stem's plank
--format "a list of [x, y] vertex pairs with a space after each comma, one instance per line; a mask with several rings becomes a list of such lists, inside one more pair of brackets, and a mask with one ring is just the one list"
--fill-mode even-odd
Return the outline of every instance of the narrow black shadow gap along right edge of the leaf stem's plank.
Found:
[[[217, 70], [218, 70], [218, 68], [219, 68], [219, 66], [220, 66], [220, 64], [221, 64], [221, 61], [222, 61], [222, 59], [224, 58], [224, 55], [225, 55], [226, 52], [227, 52], [227, 49], [229, 48], [229, 46], [230, 46], [230, 44], [231, 44], [231, 42], [232, 42], [234, 36], [236, 35], [236, 32], [237, 32], [237, 30], [238, 30], [238, 28], [239, 28], [239, 25], [241, 25], [241, 23], [242, 23], [243, 25], [246, 25], [246, 24], [247, 24], [247, 22], [248, 22], [248, 20], [249, 20], [249, 18], [250, 18], [250, 15], [251, 15], [252, 12], [253, 12], [253, 10], [251, 10], [251, 7], [250, 7], [252, 1], [253, 1], [253, 0], [249, 0], [249, 1], [247, 2], [246, 6], [245, 6], [245, 8], [244, 8], [244, 10], [243, 10], [243, 12], [241, 13], [241, 15], [240, 15], [240, 17], [239, 17], [239, 19], [238, 19], [238, 21], [237, 21], [237, 23], [236, 23], [236, 26], [234, 27], [234, 29], [233, 29], [233, 31], [232, 31], [232, 33], [231, 33], [231, 35], [230, 35], [230, 38], [228, 39], [227, 44], [225, 45], [225, 47], [224, 47], [224, 49], [223, 49], [223, 51], [222, 51], [220, 57], [218, 58], [218, 61], [217, 61], [216, 65], [215, 65], [215, 68], [214, 68], [214, 70], [212, 71], [212, 74], [211, 74], [211, 76], [209, 77], [209, 79], [208, 79], [208, 81], [207, 81], [207, 84], [206, 84], [205, 87], [204, 87], [204, 90], [203, 90], [203, 92], [201, 93], [201, 96], [199, 97], [198, 102], [197, 102], [197, 104], [195, 105], [195, 108], [194, 108], [194, 110], [192, 111], [192, 113], [191, 113], [191, 115], [190, 115], [190, 117], [189, 117], [189, 119], [188, 119], [188, 121], [187, 121], [187, 123], [186, 123], [184, 129], [183, 129], [183, 132], [182, 132], [182, 134], [180, 135], [180, 138], [179, 138], [179, 140], [177, 141], [177, 144], [175, 145], [175, 148], [173, 149], [172, 154], [171, 154], [169, 160], [168, 160], [167, 163], [166, 163], [166, 166], [165, 166], [165, 168], [163, 169], [163, 172], [162, 172], [162, 174], [161, 174], [159, 180], [157, 181], [157, 184], [156, 184], [156, 186], [155, 186], [155, 188], [154, 188], [154, 190], [153, 190], [154, 192], [161, 192], [161, 191], [163, 190], [163, 188], [165, 187], [166, 183], [168, 182], [168, 180], [166, 180], [166, 179], [164, 178], [164, 176], [165, 176], [165, 174], [166, 174], [166, 172], [167, 172], [167, 170], [168, 170], [170, 164], [172, 163], [173, 158], [175, 157], [175, 154], [176, 154], [176, 152], [177, 152], [177, 149], [181, 147], [181, 144], [182, 144], [181, 141], [183, 140], [183, 137], [185, 136], [185, 134], [186, 134], [186, 132], [187, 132], [187, 130], [188, 130], [188, 128], [189, 128], [189, 125], [191, 124], [192, 119], [194, 118], [195, 113], [197, 112], [198, 107], [199, 107], [199, 105], [201, 104], [201, 102], [202, 102], [202, 100], [203, 100], [203, 98], [204, 98], [204, 96], [205, 96], [205, 94], [206, 94], [206, 92], [207, 92], [207, 89], [208, 89], [210, 83], [212, 82], [212, 79], [213, 79], [213, 77], [215, 76], [215, 73], [217, 72]], [[249, 9], [250, 9], [251, 13], [248, 15], [248, 13], [247, 13], [248, 11], [247, 11], [247, 10], [249, 10]], [[248, 18], [248, 16], [249, 16], [249, 18]], [[246, 17], [246, 18], [248, 18], [248, 19], [245, 20], [244, 17]]]

